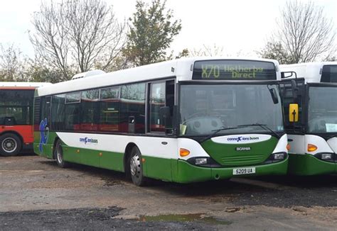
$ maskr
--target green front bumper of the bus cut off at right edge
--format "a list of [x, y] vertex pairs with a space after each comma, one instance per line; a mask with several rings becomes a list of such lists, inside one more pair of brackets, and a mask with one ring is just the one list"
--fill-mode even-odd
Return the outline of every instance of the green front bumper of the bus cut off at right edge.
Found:
[[314, 176], [337, 173], [336, 162], [326, 162], [311, 154], [289, 153], [289, 174]]

